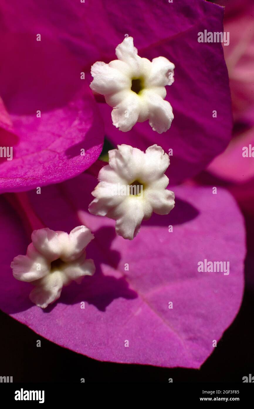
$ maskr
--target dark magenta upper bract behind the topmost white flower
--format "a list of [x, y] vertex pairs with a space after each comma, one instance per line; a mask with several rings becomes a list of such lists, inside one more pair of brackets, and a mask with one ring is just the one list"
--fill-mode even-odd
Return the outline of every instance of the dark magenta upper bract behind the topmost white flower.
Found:
[[141, 57], [152, 61], [163, 56], [173, 61], [175, 82], [168, 87], [165, 101], [174, 109], [174, 120], [166, 133], [153, 132], [147, 121], [127, 133], [120, 132], [112, 124], [112, 108], [98, 103], [106, 135], [115, 146], [128, 144], [145, 151], [156, 143], [165, 152], [172, 149], [172, 184], [197, 174], [227, 146], [232, 113], [223, 49], [220, 43], [198, 42], [200, 31], [223, 31], [223, 7], [204, 0], [159, 5], [157, 0], [62, 0], [60, 13], [54, 2], [5, 0], [3, 4], [4, 26], [13, 31], [25, 27], [32, 36], [42, 33], [57, 38], [77, 57], [88, 84], [91, 66], [96, 61], [113, 61], [115, 47], [126, 34], [135, 39]]

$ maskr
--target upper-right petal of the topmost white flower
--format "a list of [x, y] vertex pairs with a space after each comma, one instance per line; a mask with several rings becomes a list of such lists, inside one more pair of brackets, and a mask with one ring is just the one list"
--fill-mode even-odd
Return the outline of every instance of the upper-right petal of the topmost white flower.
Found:
[[153, 58], [149, 76], [146, 79], [147, 88], [165, 87], [174, 82], [174, 64], [165, 57]]

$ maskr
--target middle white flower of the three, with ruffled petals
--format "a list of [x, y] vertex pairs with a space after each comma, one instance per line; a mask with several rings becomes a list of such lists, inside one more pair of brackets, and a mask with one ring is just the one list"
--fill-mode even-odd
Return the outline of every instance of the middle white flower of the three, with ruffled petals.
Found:
[[88, 210], [116, 220], [117, 234], [133, 240], [142, 220], [148, 220], [153, 211], [168, 214], [174, 207], [174, 193], [166, 189], [164, 175], [169, 157], [157, 145], [145, 153], [129, 145], [117, 147], [108, 152], [109, 164], [99, 171]]

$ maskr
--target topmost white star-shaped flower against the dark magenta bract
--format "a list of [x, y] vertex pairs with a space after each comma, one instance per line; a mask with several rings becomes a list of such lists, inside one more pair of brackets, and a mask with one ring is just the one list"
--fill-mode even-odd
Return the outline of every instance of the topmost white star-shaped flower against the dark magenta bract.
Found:
[[113, 107], [113, 125], [123, 132], [136, 122], [149, 119], [149, 125], [158, 133], [166, 132], [174, 119], [166, 97], [165, 85], [174, 82], [174, 64], [167, 58], [147, 58], [137, 55], [133, 38], [125, 38], [116, 47], [118, 60], [93, 64], [91, 74], [93, 91], [103, 94]]

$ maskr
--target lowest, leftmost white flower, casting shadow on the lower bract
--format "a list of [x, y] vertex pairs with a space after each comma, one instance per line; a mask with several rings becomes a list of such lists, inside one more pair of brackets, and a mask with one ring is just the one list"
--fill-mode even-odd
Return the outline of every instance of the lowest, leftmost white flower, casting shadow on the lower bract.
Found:
[[31, 238], [27, 255], [15, 257], [11, 268], [15, 279], [35, 285], [29, 298], [38, 307], [56, 301], [64, 285], [73, 280], [80, 283], [83, 276], [94, 274], [93, 260], [86, 260], [85, 247], [94, 238], [87, 227], [75, 227], [70, 234], [39, 229]]

